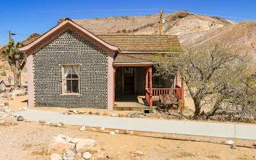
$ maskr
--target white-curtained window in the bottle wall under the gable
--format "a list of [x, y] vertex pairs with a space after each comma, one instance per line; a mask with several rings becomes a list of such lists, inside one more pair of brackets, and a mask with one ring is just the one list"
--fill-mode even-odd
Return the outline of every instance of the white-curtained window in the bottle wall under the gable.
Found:
[[63, 93], [79, 93], [79, 65], [62, 65]]

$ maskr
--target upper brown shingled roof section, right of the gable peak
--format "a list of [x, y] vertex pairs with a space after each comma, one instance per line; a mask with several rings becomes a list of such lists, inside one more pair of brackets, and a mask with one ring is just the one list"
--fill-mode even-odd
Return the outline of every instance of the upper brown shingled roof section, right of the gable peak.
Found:
[[173, 35], [97, 35], [120, 51], [168, 52], [179, 47], [177, 36]]

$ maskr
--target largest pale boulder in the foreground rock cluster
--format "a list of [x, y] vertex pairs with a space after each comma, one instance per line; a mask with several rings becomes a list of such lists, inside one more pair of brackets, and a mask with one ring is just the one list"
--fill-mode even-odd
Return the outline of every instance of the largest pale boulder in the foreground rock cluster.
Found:
[[49, 144], [48, 150], [50, 154], [64, 154], [68, 150], [75, 150], [75, 144], [68, 143], [66, 140], [61, 138], [61, 136], [56, 136]]

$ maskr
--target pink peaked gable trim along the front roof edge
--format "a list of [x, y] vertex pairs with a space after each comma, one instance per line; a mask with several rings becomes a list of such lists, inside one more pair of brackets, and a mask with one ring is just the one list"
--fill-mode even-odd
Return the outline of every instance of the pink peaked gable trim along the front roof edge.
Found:
[[[50, 40], [56, 38], [56, 36], [60, 35], [60, 33], [63, 32], [65, 29], [76, 29], [80, 34], [83, 33], [82, 35], [86, 35], [86, 38], [88, 38], [90, 41], [94, 42], [97, 45], [101, 45], [103, 48], [106, 50], [111, 50], [111, 51], [118, 51], [118, 47], [110, 45], [97, 36], [93, 35], [86, 29], [82, 28], [81, 26], [77, 25], [76, 23], [72, 22], [71, 20], [65, 20], [58, 24], [56, 27], [52, 28], [49, 30], [47, 33], [44, 35], [40, 36], [37, 40], [32, 42], [31, 44], [28, 44], [24, 47], [20, 47], [20, 51], [28, 51], [28, 50], [33, 50], [35, 52], [37, 49], [40, 49], [43, 45], [47, 44]], [[60, 32], [61, 30], [61, 32]], [[58, 32], [58, 34], [56, 34]], [[36, 49], [33, 49], [36, 47]]]

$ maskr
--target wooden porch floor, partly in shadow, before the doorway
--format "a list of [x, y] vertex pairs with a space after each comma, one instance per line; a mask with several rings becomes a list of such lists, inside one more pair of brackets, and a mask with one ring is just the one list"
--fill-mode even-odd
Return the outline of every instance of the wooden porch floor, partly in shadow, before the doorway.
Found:
[[116, 95], [115, 107], [149, 108], [145, 95]]

